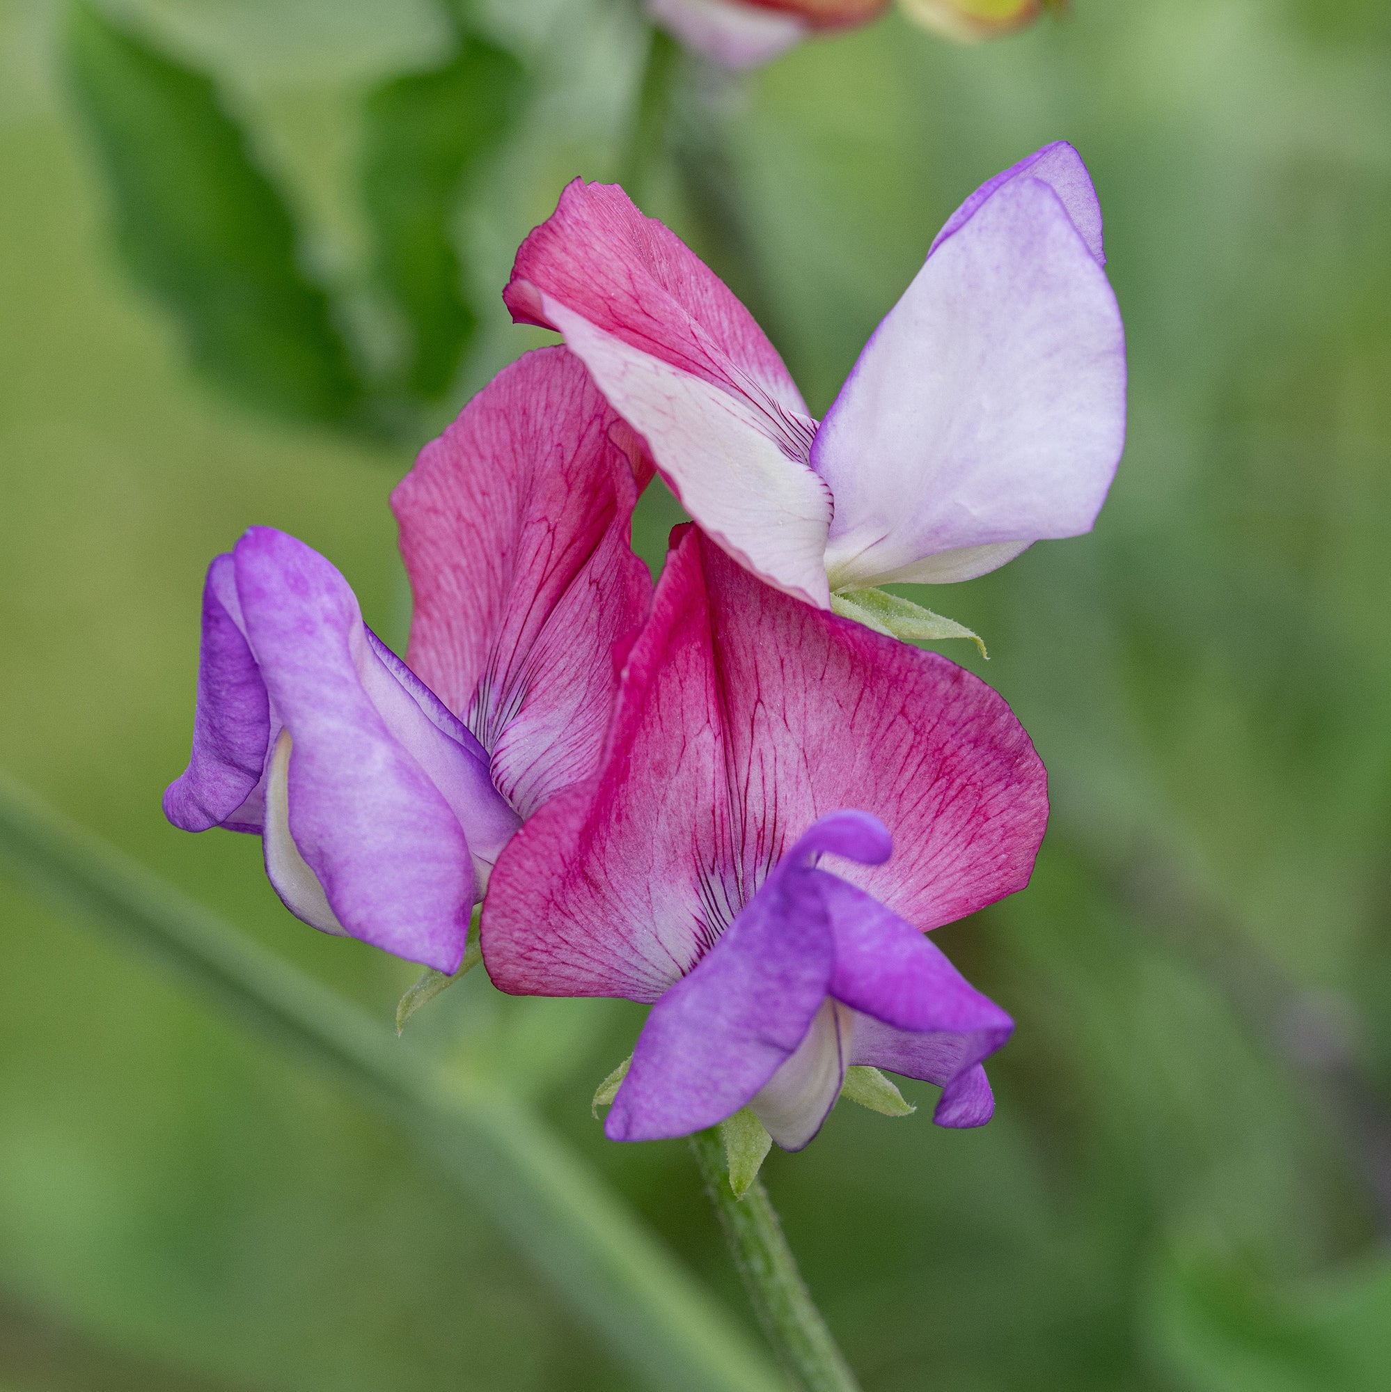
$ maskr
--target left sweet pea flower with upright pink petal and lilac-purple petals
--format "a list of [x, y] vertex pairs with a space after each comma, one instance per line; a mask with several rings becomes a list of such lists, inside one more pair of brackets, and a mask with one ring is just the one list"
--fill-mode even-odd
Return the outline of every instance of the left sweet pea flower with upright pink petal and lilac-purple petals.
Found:
[[[262, 835], [305, 923], [453, 973], [524, 818], [597, 766], [611, 649], [646, 612], [638, 441], [564, 349], [501, 373], [393, 496], [402, 663], [334, 567], [252, 528], [207, 571], [187, 831]], [[422, 679], [423, 678], [423, 679]]]

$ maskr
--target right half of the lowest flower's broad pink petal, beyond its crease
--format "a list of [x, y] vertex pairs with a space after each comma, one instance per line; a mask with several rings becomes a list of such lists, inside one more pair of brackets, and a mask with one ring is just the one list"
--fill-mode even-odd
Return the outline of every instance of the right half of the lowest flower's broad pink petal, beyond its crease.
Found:
[[742, 884], [841, 807], [877, 817], [894, 853], [837, 876], [915, 928], [1028, 884], [1047, 777], [998, 693], [936, 653], [769, 590], [693, 529], [667, 567], [673, 586], [699, 568], [714, 625]]

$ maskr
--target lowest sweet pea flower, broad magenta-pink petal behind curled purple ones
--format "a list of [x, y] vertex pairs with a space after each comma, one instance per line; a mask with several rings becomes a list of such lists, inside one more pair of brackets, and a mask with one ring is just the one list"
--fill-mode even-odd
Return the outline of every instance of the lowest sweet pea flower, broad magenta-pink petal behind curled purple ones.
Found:
[[1028, 883], [1047, 820], [1029, 736], [938, 654], [762, 585], [695, 526], [674, 543], [597, 773], [497, 862], [489, 974], [653, 1002], [613, 1140], [750, 1105], [798, 1150], [854, 1063], [937, 1083], [940, 1125], [980, 1125], [1011, 1020], [923, 933]]

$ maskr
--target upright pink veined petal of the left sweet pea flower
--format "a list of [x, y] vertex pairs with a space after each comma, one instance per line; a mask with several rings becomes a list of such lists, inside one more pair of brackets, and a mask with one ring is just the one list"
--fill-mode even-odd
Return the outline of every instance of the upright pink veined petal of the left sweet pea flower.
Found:
[[524, 817], [599, 761], [613, 646], [652, 593], [628, 543], [635, 470], [650, 476], [583, 365], [543, 348], [479, 393], [391, 497], [415, 593], [411, 667], [468, 722]]

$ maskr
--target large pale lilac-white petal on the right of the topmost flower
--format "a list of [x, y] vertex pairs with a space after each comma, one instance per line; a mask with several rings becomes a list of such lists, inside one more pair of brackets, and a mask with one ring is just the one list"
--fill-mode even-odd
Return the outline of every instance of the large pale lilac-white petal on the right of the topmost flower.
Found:
[[1086, 532], [1124, 443], [1115, 296], [1025, 173], [927, 259], [816, 434], [831, 587], [965, 579]]

